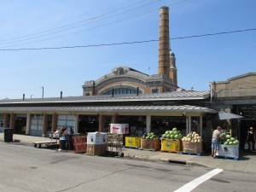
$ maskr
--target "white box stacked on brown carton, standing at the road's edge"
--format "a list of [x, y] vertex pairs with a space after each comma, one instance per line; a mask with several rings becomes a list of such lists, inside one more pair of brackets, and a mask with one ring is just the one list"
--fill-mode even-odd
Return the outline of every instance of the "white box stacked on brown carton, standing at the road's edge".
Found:
[[104, 155], [108, 148], [108, 133], [89, 132], [87, 134], [87, 150], [89, 155]]

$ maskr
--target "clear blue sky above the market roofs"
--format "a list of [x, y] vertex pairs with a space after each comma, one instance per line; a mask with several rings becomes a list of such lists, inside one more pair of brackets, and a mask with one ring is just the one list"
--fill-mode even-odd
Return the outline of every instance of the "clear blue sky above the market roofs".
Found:
[[157, 74], [157, 41], [39, 48], [158, 40], [161, 6], [170, 9], [178, 86], [209, 90], [209, 82], [255, 72], [254, 30], [183, 38], [256, 28], [254, 0], [1, 0], [0, 99], [40, 98], [42, 86], [44, 97], [81, 96], [84, 81], [119, 66]]

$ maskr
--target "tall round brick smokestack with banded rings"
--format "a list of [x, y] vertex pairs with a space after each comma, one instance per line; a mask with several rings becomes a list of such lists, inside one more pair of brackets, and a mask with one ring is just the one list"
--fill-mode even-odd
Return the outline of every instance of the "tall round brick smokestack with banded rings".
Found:
[[169, 8], [160, 8], [158, 74], [170, 77]]

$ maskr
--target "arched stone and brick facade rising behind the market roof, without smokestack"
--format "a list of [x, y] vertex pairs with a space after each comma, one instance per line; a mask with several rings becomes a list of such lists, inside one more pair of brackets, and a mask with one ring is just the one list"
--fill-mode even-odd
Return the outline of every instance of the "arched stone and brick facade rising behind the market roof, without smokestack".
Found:
[[[172, 79], [166, 75], [148, 75], [131, 67], [115, 67], [96, 81], [84, 82], [83, 96], [109, 95], [112, 90], [133, 90], [132, 93], [162, 93], [177, 90]], [[127, 93], [128, 94], [128, 93]], [[114, 92], [113, 95], [116, 95]]]

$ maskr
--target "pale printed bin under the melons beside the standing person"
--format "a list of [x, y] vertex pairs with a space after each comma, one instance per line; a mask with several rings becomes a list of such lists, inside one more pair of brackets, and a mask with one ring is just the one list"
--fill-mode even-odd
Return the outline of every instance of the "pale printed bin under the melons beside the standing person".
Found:
[[218, 145], [218, 157], [224, 159], [239, 160], [239, 144], [237, 145]]

